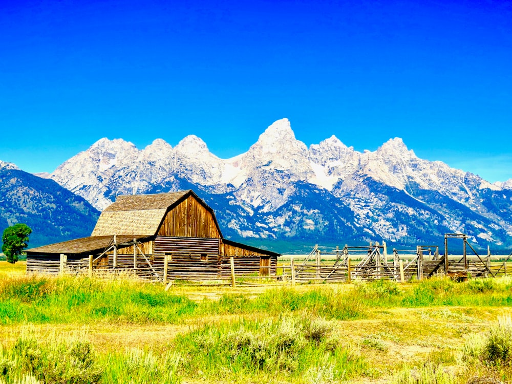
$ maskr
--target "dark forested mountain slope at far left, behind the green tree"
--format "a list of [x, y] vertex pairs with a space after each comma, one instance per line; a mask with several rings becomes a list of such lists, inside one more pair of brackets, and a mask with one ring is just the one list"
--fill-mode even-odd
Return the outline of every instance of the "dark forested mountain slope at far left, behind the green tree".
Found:
[[53, 180], [0, 161], [0, 233], [10, 225], [32, 228], [30, 247], [90, 236], [99, 211]]

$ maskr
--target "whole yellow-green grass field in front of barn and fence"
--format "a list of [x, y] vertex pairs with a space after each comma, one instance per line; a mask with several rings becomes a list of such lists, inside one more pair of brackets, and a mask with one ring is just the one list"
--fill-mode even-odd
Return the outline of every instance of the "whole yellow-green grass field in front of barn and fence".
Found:
[[0, 383], [512, 382], [512, 279], [186, 287], [0, 262]]

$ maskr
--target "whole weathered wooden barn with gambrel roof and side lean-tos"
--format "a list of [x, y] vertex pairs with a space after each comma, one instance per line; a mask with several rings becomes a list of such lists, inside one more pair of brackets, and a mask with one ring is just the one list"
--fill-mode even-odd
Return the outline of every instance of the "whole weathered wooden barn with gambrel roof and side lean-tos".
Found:
[[192, 190], [119, 196], [90, 237], [27, 250], [27, 273], [129, 270], [152, 279], [275, 275], [278, 253], [224, 239], [214, 211]]

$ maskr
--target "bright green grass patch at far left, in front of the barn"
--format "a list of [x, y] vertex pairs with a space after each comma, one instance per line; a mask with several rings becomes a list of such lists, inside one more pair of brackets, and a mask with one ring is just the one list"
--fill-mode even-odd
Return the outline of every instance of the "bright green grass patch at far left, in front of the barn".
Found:
[[0, 324], [176, 323], [197, 307], [183, 295], [167, 294], [159, 285], [72, 276], [1, 276], [0, 295]]

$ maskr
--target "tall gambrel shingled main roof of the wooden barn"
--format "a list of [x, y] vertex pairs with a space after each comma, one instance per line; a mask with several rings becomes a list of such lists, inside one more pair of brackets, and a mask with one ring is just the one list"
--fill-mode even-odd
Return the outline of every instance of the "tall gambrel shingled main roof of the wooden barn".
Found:
[[196, 196], [192, 190], [156, 195], [118, 196], [115, 203], [101, 212], [91, 236], [112, 236], [114, 233], [154, 236], [167, 209], [190, 194]]

